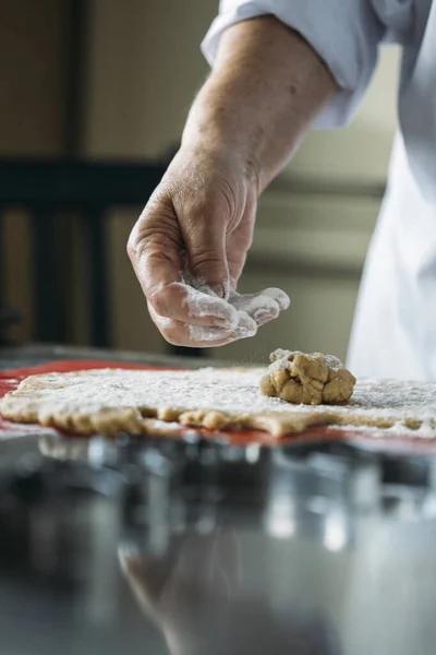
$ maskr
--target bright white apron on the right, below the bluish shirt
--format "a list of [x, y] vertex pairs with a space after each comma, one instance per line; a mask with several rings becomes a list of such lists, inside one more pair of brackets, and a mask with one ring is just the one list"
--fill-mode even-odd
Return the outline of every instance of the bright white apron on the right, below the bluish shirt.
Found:
[[400, 135], [348, 359], [356, 376], [436, 380], [436, 203], [423, 198]]

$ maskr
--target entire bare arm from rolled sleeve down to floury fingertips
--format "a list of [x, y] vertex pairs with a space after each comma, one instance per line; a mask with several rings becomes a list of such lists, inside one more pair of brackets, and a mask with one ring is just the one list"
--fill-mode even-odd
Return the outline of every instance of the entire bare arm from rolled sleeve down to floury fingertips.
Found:
[[[337, 88], [311, 46], [277, 19], [226, 31], [181, 148], [129, 241], [150, 315], [170, 343], [223, 345], [287, 307], [272, 294], [247, 315], [227, 301], [228, 289], [245, 263], [258, 193]], [[213, 301], [181, 284], [185, 258], [194, 278], [215, 289]]]

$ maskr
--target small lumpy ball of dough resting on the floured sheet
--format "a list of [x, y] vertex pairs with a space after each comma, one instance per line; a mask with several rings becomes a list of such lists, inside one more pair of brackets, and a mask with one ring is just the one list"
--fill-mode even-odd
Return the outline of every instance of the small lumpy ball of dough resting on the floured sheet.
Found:
[[350, 400], [354, 376], [332, 355], [275, 350], [271, 365], [261, 380], [263, 394], [288, 403], [320, 405]]

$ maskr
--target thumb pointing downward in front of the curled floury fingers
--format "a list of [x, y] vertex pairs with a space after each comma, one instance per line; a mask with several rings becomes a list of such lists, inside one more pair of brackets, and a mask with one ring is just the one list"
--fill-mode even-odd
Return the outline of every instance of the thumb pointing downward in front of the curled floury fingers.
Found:
[[216, 212], [201, 212], [181, 225], [190, 273], [202, 278], [220, 298], [228, 294], [229, 265], [226, 223]]

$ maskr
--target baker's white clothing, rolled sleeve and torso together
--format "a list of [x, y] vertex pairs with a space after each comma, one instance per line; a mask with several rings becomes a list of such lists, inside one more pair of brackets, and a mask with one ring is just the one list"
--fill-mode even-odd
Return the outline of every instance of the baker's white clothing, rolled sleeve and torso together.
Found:
[[329, 66], [340, 93], [317, 121], [347, 124], [378, 45], [403, 47], [388, 189], [367, 253], [351, 335], [356, 376], [436, 380], [436, 0], [221, 0], [203, 51], [231, 24], [274, 14]]

